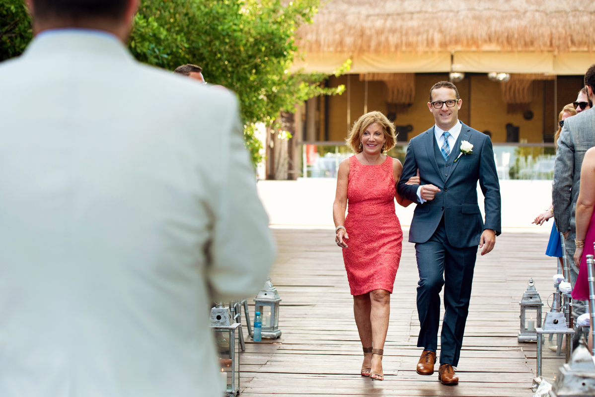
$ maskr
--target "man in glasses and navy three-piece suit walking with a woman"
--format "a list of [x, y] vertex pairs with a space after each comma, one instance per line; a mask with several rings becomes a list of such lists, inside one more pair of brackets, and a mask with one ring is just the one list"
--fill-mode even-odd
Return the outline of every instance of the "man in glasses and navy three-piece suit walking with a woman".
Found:
[[[489, 253], [500, 234], [500, 185], [490, 138], [458, 119], [462, 100], [448, 81], [434, 84], [428, 108], [436, 125], [409, 141], [397, 190], [418, 203], [409, 230], [415, 242], [419, 282], [418, 347], [424, 348], [417, 373], [431, 375], [436, 363], [440, 291], [444, 286], [444, 319], [440, 337], [440, 382], [457, 385], [477, 246]], [[419, 171], [420, 185], [406, 181]], [[486, 223], [477, 202], [483, 191]]]

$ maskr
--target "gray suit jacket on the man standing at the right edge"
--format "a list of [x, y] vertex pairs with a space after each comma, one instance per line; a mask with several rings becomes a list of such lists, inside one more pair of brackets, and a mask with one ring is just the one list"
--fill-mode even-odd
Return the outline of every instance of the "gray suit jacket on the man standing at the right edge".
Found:
[[[558, 138], [554, 165], [552, 203], [558, 231], [577, 231], [575, 212], [581, 185], [581, 166], [588, 149], [595, 146], [595, 110], [566, 119]], [[571, 189], [572, 188], [572, 189]]]

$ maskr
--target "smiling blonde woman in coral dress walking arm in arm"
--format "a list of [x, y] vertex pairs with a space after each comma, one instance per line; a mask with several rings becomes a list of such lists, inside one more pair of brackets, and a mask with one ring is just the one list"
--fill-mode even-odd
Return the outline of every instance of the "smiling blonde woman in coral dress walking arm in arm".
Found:
[[[335, 241], [343, 248], [355, 323], [364, 348], [361, 374], [375, 380], [384, 380], [382, 355], [390, 294], [403, 241], [394, 199], [405, 207], [411, 204], [396, 193], [403, 166], [383, 154], [395, 143], [394, 125], [381, 112], [361, 116], [347, 137], [356, 154], [339, 166], [333, 204]], [[409, 183], [419, 181], [412, 178]]]

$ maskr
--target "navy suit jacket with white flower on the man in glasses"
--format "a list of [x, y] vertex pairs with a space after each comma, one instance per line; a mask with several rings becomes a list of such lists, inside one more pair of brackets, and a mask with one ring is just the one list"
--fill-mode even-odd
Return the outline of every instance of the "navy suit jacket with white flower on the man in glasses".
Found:
[[[407, 184], [418, 169], [422, 185], [432, 184], [440, 188], [434, 200], [417, 204], [409, 229], [409, 242], [428, 241], [443, 216], [448, 242], [456, 248], [478, 245], [484, 229], [493, 229], [500, 234], [500, 184], [490, 138], [463, 124], [459, 136], [459, 141], [462, 140], [473, 145], [473, 152], [450, 164], [448, 175], [440, 172], [434, 156], [434, 127], [409, 141], [403, 173], [397, 185], [400, 196], [419, 203], [418, 185]], [[453, 150], [458, 152], [459, 147]], [[485, 225], [477, 203], [478, 181], [485, 197]]]

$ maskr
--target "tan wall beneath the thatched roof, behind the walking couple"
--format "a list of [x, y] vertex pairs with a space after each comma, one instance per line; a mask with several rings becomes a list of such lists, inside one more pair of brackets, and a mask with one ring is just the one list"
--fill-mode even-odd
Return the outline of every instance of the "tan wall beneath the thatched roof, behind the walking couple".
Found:
[[[433, 116], [428, 110], [428, 93], [430, 87], [437, 81], [447, 80], [446, 73], [420, 73], [415, 75], [415, 100], [405, 114], [398, 114], [395, 120], [396, 125], [413, 126], [413, 131], [408, 138], [421, 134], [434, 124]], [[558, 78], [558, 109], [566, 103], [576, 99], [576, 92], [581, 89], [582, 77], [568, 76]], [[339, 78], [331, 77], [330, 87], [337, 87], [339, 84], [347, 86], [347, 76]], [[381, 111], [387, 114], [386, 85], [380, 81], [370, 81], [368, 86], [368, 111]], [[525, 120], [522, 114], [508, 114], [508, 107], [502, 100], [500, 83], [488, 80], [486, 74], [468, 73], [463, 81], [457, 83], [459, 94], [463, 99], [463, 105], [459, 111], [459, 119], [465, 124], [471, 125], [478, 131], [490, 131], [492, 141], [500, 143], [506, 141], [506, 124], [511, 123], [520, 127], [519, 139], [529, 143], [540, 143], [543, 136], [543, 99], [544, 86], [546, 87], [546, 133], [550, 129], [555, 130], [555, 118], [553, 113], [553, 81], [534, 81], [533, 102], [530, 109], [533, 111], [533, 119]], [[364, 90], [365, 82], [359, 81], [358, 75], [351, 75], [349, 78], [349, 96], [351, 99], [350, 123], [364, 114]], [[469, 97], [470, 96], [470, 97]], [[342, 141], [347, 136], [347, 97], [348, 93], [332, 96], [328, 99], [328, 140]], [[324, 100], [320, 102], [321, 114], [324, 114]], [[558, 110], [559, 112], [559, 110]], [[318, 137], [324, 140], [324, 123], [320, 123]], [[402, 140], [402, 139], [400, 139]]]

